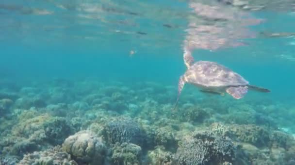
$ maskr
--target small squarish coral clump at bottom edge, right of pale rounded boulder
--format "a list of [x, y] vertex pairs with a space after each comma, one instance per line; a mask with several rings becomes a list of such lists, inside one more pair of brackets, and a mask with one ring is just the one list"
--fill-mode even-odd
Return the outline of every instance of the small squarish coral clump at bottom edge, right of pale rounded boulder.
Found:
[[112, 149], [112, 165], [141, 165], [141, 147], [132, 143], [117, 143]]

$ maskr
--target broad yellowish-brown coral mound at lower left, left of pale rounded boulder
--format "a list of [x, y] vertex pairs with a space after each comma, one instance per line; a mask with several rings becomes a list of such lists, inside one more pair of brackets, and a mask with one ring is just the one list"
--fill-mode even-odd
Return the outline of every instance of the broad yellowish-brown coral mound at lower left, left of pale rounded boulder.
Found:
[[[32, 113], [32, 114], [31, 114]], [[34, 115], [33, 111], [24, 113], [24, 117]], [[49, 144], [62, 144], [71, 134], [71, 125], [64, 118], [52, 118], [48, 114], [20, 119], [19, 124], [12, 129], [14, 141], [7, 143], [10, 153], [22, 155], [25, 151], [39, 150], [39, 146], [46, 147]]]

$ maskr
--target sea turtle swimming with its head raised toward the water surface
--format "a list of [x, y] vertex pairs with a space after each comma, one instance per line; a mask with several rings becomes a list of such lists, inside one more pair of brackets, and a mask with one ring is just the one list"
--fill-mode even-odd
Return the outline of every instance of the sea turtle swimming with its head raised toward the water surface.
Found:
[[248, 89], [270, 92], [268, 89], [250, 85], [241, 75], [216, 62], [194, 62], [194, 57], [187, 49], [184, 50], [183, 59], [187, 70], [180, 76], [178, 97], [174, 109], [178, 104], [180, 93], [185, 83], [197, 86], [201, 92], [224, 95], [223, 92], [226, 91], [235, 99], [243, 98]]

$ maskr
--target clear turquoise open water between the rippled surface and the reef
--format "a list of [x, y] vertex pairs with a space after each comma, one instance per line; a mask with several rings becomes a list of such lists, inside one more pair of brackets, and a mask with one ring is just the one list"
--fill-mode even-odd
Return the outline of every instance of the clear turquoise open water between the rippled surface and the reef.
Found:
[[[288, 12], [257, 12], [255, 14], [267, 19], [266, 23], [252, 27], [256, 31], [292, 32], [294, 30], [295, 16]], [[17, 20], [16, 22], [20, 24], [13, 26], [14, 23], [10, 24], [9, 18]], [[139, 38], [127, 36], [129, 39], [127, 41], [121, 41], [120, 39], [126, 36], [119, 34], [97, 34], [96, 37], [103, 40], [71, 38], [69, 36], [73, 34], [92, 36], [94, 32], [107, 31], [108, 28], [91, 26], [90, 23], [78, 26], [70, 19], [67, 22], [60, 22], [60, 19], [54, 22], [54, 16], [50, 15], [2, 13], [0, 19], [2, 20], [0, 75], [3, 78], [9, 77], [16, 83], [33, 80], [46, 81], [57, 77], [73, 80], [96, 77], [101, 82], [115, 80], [132, 84], [152, 81], [176, 87], [179, 76], [186, 69], [182, 60], [181, 48], [181, 41], [185, 36], [184, 28], [167, 29], [162, 26], [151, 28], [149, 21], [152, 20], [139, 20], [142, 25], [140, 30], [146, 31], [148, 35], [162, 34], [167, 37], [168, 41], [176, 40], [170, 45], [166, 43], [165, 47], [156, 49], [153, 45], [159, 46], [160, 44], [155, 40], [144, 40], [144, 35], [139, 35]], [[26, 21], [34, 23], [35, 29], [21, 31], [17, 28]], [[71, 28], [64, 31], [60, 29], [37, 30], [38, 26], [47, 23], [71, 25]], [[184, 20], [180, 24], [185, 25], [185, 23]], [[54, 34], [63, 36], [56, 37]], [[136, 45], [140, 41], [147, 42], [149, 46]], [[246, 97], [265, 97], [274, 102], [282, 101], [293, 105], [295, 101], [295, 61], [279, 56], [282, 54], [295, 56], [295, 47], [289, 44], [292, 41], [295, 39], [251, 39], [247, 41], [249, 45], [246, 47], [215, 52], [195, 50], [193, 55], [196, 60], [211, 60], [226, 65], [244, 76], [251, 84], [271, 90], [269, 94], [247, 95]], [[129, 53], [134, 48], [137, 53], [130, 57]]]

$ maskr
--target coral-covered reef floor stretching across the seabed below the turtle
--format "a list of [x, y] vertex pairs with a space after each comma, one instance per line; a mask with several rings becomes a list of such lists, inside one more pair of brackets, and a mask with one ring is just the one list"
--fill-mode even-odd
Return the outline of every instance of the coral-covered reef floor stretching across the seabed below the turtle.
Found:
[[0, 165], [295, 165], [295, 105], [186, 88], [1, 82]]

